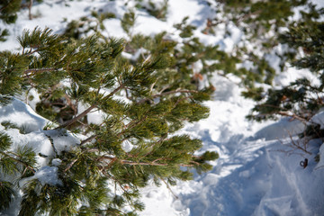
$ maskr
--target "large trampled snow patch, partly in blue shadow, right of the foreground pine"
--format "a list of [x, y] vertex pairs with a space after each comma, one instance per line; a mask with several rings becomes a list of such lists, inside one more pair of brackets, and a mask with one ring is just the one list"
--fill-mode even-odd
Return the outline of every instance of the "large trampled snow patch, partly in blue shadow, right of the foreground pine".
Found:
[[[178, 199], [166, 188], [144, 189], [148, 209], [142, 215], [323, 215], [324, 170], [314, 161], [322, 141], [311, 142], [312, 155], [292, 148], [289, 134], [301, 132], [302, 123], [246, 121], [253, 103], [229, 80], [217, 80], [225, 89], [208, 103], [211, 116], [187, 125], [185, 132], [220, 158], [211, 172], [173, 187]], [[300, 166], [304, 158], [309, 159], [305, 169]]]

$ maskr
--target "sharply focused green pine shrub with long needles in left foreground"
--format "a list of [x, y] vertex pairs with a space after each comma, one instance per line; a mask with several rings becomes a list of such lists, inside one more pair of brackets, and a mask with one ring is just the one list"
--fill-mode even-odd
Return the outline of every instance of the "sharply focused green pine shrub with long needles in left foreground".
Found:
[[[143, 209], [139, 187], [149, 179], [169, 185], [191, 179], [191, 168], [211, 169], [207, 161], [218, 157], [215, 152], [195, 155], [202, 141], [175, 135], [185, 121], [208, 116], [202, 102], [211, 89], [199, 90], [190, 79], [170, 79], [177, 67], [167, 51], [130, 64], [121, 57], [124, 40], [67, 40], [36, 28], [24, 31], [19, 42], [20, 53], [0, 53], [1, 101], [5, 105], [23, 91], [38, 91], [37, 112], [58, 125], [41, 131], [53, 153], [37, 157], [57, 170], [58, 183], [35, 177], [41, 169], [35, 153], [23, 146], [12, 152], [3, 134], [0, 165], [18, 167], [20, 179], [30, 180], [11, 185], [0, 179], [6, 191], [1, 208], [8, 207], [18, 188], [23, 190], [19, 215], [131, 215]], [[86, 107], [82, 112], [80, 105]], [[92, 123], [88, 114], [99, 111], [102, 121]], [[69, 131], [84, 139], [57, 149], [55, 140], [70, 136]], [[4, 177], [10, 175], [2, 170]]]

